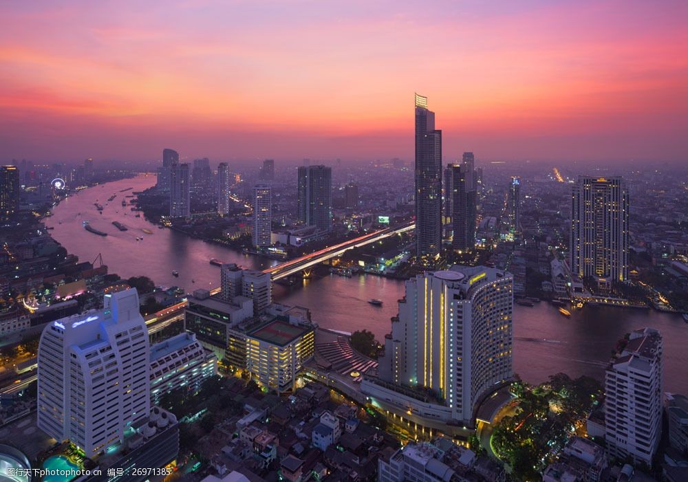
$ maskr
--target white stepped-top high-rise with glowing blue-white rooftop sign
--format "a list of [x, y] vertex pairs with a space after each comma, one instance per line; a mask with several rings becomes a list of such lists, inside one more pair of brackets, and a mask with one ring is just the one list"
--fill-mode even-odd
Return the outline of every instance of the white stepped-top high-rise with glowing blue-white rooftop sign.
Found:
[[43, 329], [38, 426], [94, 457], [150, 412], [148, 329], [136, 289], [105, 295], [100, 311]]

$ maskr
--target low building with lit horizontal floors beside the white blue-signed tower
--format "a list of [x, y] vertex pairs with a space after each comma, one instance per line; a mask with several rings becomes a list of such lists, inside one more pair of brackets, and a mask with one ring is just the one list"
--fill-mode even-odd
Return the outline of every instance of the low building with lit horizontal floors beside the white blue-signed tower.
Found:
[[151, 402], [176, 388], [197, 391], [217, 375], [217, 357], [206, 351], [193, 333], [180, 333], [151, 347]]

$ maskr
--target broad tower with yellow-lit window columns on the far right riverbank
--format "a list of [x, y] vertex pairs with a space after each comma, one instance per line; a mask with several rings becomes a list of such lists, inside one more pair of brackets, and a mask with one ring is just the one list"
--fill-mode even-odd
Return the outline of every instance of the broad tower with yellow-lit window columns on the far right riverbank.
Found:
[[571, 208], [571, 272], [600, 287], [628, 279], [628, 191], [621, 177], [580, 176]]

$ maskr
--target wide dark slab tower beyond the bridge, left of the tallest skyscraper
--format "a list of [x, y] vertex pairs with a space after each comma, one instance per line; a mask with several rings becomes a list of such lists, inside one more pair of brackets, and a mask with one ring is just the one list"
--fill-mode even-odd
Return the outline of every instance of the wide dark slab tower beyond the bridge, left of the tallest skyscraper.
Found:
[[332, 230], [332, 168], [299, 166], [299, 220]]

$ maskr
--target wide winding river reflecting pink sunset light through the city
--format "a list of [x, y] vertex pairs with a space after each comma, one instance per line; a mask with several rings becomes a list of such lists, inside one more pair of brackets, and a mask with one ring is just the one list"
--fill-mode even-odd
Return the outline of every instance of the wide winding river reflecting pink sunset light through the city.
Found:
[[[82, 190], [56, 206], [45, 224], [54, 228], [54, 239], [81, 261], [94, 261], [102, 254], [109, 272], [122, 278], [145, 275], [158, 285], [178, 285], [187, 291], [219, 285], [219, 268], [208, 262], [212, 258], [255, 269], [278, 263], [158, 229], [143, 217], [135, 217], [129, 206], [122, 208], [122, 199], [131, 199], [125, 196], [153, 184], [154, 175], [140, 175]], [[133, 189], [120, 193], [129, 187]], [[117, 197], [108, 203], [113, 194]], [[104, 207], [102, 215], [94, 206], [96, 202]], [[85, 231], [83, 221], [89, 221], [108, 236]], [[119, 231], [112, 221], [120, 221], [129, 230]], [[146, 234], [143, 229], [153, 234]], [[138, 237], [143, 240], [136, 241]], [[172, 270], [179, 272], [178, 278]], [[321, 327], [342, 331], [369, 329], [378, 340], [390, 331], [390, 318], [397, 314], [396, 300], [403, 294], [403, 281], [364, 275], [329, 275], [292, 287], [274, 287], [275, 300], [310, 308]], [[370, 298], [383, 300], [383, 306], [370, 305]], [[688, 394], [688, 324], [681, 316], [652, 309], [585, 307], [565, 318], [548, 303], [537, 303], [532, 308], [515, 305], [514, 370], [529, 382], [541, 382], [558, 372], [603, 380], [604, 367], [616, 340], [641, 327], [656, 328], [663, 335], [665, 391]]]

